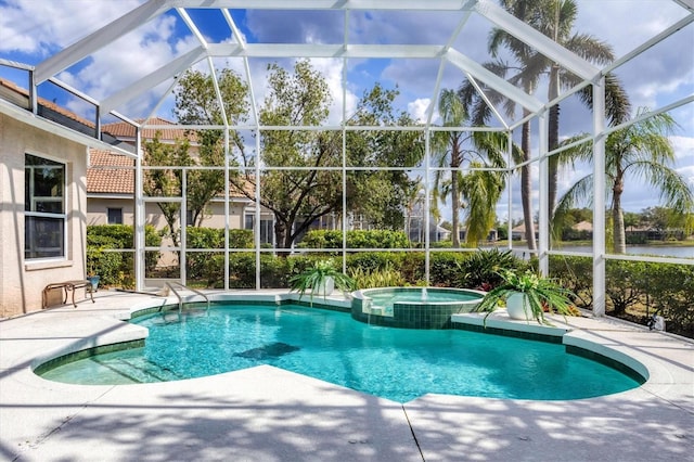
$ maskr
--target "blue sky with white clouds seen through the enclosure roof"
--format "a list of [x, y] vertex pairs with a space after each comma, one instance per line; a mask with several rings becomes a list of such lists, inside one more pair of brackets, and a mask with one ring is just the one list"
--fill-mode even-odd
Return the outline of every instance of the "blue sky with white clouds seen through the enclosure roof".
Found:
[[[0, 59], [38, 64], [141, 3], [138, 0], [0, 0]], [[600, 38], [612, 46], [618, 57], [685, 16], [685, 11], [669, 0], [577, 0], [577, 5], [575, 30]], [[228, 25], [217, 10], [190, 10], [189, 14], [201, 24], [201, 33], [208, 41], [232, 40]], [[457, 12], [352, 12], [345, 30], [342, 12], [233, 10], [230, 14], [245, 40], [269, 43], [342, 43], [347, 35], [350, 43], [445, 44], [463, 18], [463, 14]], [[480, 15], [471, 15], [452, 43], [453, 48], [479, 63], [489, 61], [487, 38], [491, 27]], [[181, 16], [169, 12], [106, 46], [89, 60], [63, 70], [57, 77], [90, 97], [102, 100], [114, 89], [125, 88], [195, 46], [197, 40]], [[616, 69], [634, 110], [663, 107], [694, 94], [693, 47], [694, 25], [690, 24], [674, 37]], [[502, 57], [505, 56], [502, 54]], [[266, 68], [273, 61], [250, 59], [248, 62], [254, 94], [259, 105], [266, 93]], [[283, 66], [292, 65], [290, 60], [278, 62]], [[343, 62], [321, 59], [311, 63], [323, 74], [331, 88], [334, 97], [331, 120], [338, 121], [343, 111]], [[400, 95], [396, 103], [399, 110], [425, 120], [427, 110], [436, 99], [435, 81], [439, 63], [439, 60], [413, 59], [349, 60], [345, 112], [349, 114], [354, 111], [363, 91], [381, 82], [387, 88], [398, 87]], [[214, 65], [231, 67], [241, 75], [245, 73], [240, 59], [215, 59]], [[0, 66], [0, 77], [18, 84], [24, 78], [22, 74], [3, 66]], [[458, 88], [461, 82], [460, 70], [446, 66], [441, 75], [441, 88]], [[164, 82], [145, 98], [130, 101], [117, 107], [117, 111], [140, 117], [150, 115], [152, 107], [158, 104], [157, 114], [171, 118], [172, 100], [165, 98], [169, 87], [170, 82]], [[541, 101], [547, 101], [547, 84], [540, 85], [537, 95]], [[86, 111], [83, 104], [74, 100], [65, 104], [78, 113]], [[680, 125], [678, 132], [671, 137], [677, 154], [674, 168], [694, 188], [694, 103], [672, 111], [670, 115]], [[436, 113], [434, 120], [437, 120]], [[563, 137], [588, 132], [591, 124], [590, 112], [576, 98], [562, 103]], [[537, 137], [534, 146], [537, 151]], [[587, 174], [590, 174], [588, 166], [563, 171], [560, 188], [565, 190]], [[537, 169], [534, 177], [537, 178]], [[514, 189], [517, 188], [516, 181]], [[514, 195], [519, 197], [517, 191]], [[657, 191], [634, 181], [626, 185], [624, 206], [629, 211], [641, 211], [657, 205]], [[507, 211], [501, 207], [499, 218], [504, 219], [504, 214]], [[518, 214], [519, 208], [514, 207], [514, 218]]]

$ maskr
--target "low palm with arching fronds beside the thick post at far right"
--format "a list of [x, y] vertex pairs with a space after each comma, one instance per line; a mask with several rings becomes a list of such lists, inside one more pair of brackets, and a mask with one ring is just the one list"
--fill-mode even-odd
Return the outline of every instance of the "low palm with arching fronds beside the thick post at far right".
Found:
[[[685, 228], [694, 227], [694, 192], [686, 180], [672, 169], [674, 150], [669, 136], [678, 127], [668, 114], [656, 114], [641, 119], [647, 110], [638, 112], [640, 120], [633, 125], [614, 131], [605, 141], [605, 181], [609, 187], [607, 194], [612, 200], [613, 251], [624, 254], [627, 248], [625, 217], [621, 208], [621, 195], [627, 178], [639, 179], [660, 191], [660, 200], [666, 207], [678, 216], [684, 217]], [[574, 142], [584, 136], [566, 140]], [[575, 159], [592, 159], [591, 143], [583, 143], [565, 152]], [[574, 204], [592, 197], [593, 176], [588, 175], [578, 180], [558, 201], [555, 220]]]

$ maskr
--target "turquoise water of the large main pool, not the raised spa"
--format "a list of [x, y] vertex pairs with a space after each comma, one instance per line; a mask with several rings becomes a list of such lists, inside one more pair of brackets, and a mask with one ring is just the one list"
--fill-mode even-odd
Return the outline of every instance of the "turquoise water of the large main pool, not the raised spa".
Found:
[[144, 348], [98, 355], [42, 374], [80, 384], [160, 382], [271, 364], [407, 402], [427, 393], [578, 399], [639, 386], [562, 345], [455, 330], [368, 325], [347, 313], [286, 305], [154, 315]]

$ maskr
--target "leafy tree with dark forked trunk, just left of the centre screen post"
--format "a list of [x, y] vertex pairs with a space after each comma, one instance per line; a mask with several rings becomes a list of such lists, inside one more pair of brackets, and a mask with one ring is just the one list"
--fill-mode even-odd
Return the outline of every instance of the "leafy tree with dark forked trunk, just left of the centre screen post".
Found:
[[[260, 108], [260, 123], [291, 128], [260, 133], [265, 166], [260, 203], [274, 214], [277, 245], [288, 248], [313, 220], [342, 205], [339, 172], [322, 169], [339, 165], [342, 133], [303, 128], [322, 125], [331, 104], [324, 78], [308, 61], [296, 62], [293, 73], [277, 63], [270, 64], [268, 72], [269, 92]], [[254, 165], [255, 159], [246, 163]], [[255, 200], [257, 184], [250, 171], [246, 171], [245, 181], [254, 185]]]

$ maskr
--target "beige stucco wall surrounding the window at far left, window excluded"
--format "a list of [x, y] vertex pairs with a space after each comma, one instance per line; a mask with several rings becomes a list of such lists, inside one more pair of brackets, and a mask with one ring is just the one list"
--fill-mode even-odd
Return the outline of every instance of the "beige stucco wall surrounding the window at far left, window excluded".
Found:
[[[66, 164], [66, 258], [24, 260], [26, 153]], [[0, 114], [0, 317], [8, 317], [40, 310], [47, 284], [85, 278], [87, 147]]]

